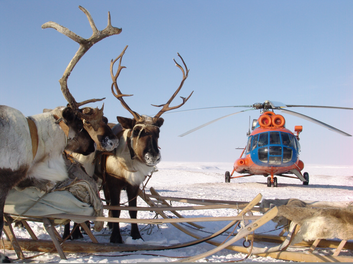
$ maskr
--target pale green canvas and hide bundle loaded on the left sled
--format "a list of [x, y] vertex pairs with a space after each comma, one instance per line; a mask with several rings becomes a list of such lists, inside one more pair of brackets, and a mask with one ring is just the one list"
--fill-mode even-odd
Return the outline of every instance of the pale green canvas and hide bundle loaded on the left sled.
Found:
[[[64, 157], [65, 158], [65, 157]], [[103, 216], [103, 203], [96, 182], [86, 174], [82, 166], [65, 158], [67, 180], [56, 183], [37, 179], [25, 179], [10, 191], [5, 212], [21, 214], [43, 196], [24, 215], [38, 216], [55, 213]], [[24, 201], [24, 197], [28, 200]], [[65, 199], [62, 200], [62, 199]], [[18, 201], [20, 203], [18, 203]], [[70, 208], [72, 207], [72, 208]], [[74, 220], [74, 219], [71, 219]], [[76, 222], [82, 222], [75, 220]], [[64, 222], [67, 222], [64, 220]], [[62, 224], [61, 221], [57, 224]], [[95, 231], [101, 231], [104, 222], [94, 222]]]

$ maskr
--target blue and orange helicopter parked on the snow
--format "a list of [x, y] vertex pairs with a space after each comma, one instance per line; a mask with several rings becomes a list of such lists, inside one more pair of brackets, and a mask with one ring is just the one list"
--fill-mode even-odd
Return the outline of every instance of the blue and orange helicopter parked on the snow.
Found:
[[[348, 107], [334, 107], [334, 106], [307, 106], [307, 105], [285, 105], [281, 102], [265, 101], [264, 103], [255, 103], [254, 105], [245, 106], [222, 106], [222, 107], [251, 107], [240, 112], [225, 115], [224, 117], [217, 118], [206, 124], [193, 128], [181, 135], [183, 137], [193, 131], [196, 131], [204, 126], [207, 126], [215, 121], [229, 117], [234, 114], [249, 110], [260, 110], [260, 117], [254, 119], [252, 123], [252, 132], [247, 132], [248, 140], [247, 144], [241, 153], [240, 157], [234, 162], [234, 168], [232, 173], [226, 171], [225, 181], [230, 182], [233, 178], [248, 177], [253, 175], [262, 175], [267, 177], [267, 186], [277, 187], [277, 177], [289, 177], [296, 178], [303, 182], [303, 185], [309, 184], [309, 173], [301, 171], [304, 169], [304, 163], [299, 159], [300, 144], [299, 144], [299, 133], [303, 130], [303, 126], [295, 126], [294, 133], [285, 127], [285, 118], [280, 114], [275, 114], [274, 110], [279, 110], [286, 114], [291, 114], [296, 117], [303, 118], [311, 121], [317, 125], [323, 126], [342, 134], [343, 136], [352, 135], [343, 132], [333, 126], [325, 124], [321, 121], [313, 119], [297, 112], [283, 109], [286, 107], [313, 107], [313, 108], [333, 108], [333, 109], [350, 109]], [[222, 107], [207, 107], [199, 109], [209, 108], [222, 108]], [[190, 111], [190, 110], [184, 110]], [[183, 111], [177, 111], [183, 112]], [[175, 112], [174, 112], [175, 113]], [[250, 120], [249, 120], [250, 121]], [[250, 123], [250, 122], [249, 122]], [[250, 124], [249, 124], [250, 126]], [[245, 155], [243, 157], [243, 155]], [[239, 174], [246, 174], [240, 176], [233, 176], [234, 172]], [[289, 174], [289, 175], [286, 175]], [[294, 175], [294, 176], [293, 176]]]

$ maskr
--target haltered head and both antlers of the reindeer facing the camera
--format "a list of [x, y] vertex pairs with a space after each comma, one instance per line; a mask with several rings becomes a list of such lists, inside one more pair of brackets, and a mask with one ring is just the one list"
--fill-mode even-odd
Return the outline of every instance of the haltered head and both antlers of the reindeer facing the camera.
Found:
[[[132, 111], [131, 108], [125, 103], [123, 99], [124, 96], [131, 96], [131, 95], [122, 94], [118, 88], [118, 84], [116, 83], [116, 80], [120, 74], [120, 71], [123, 68], [126, 68], [124, 66], [121, 66], [121, 59], [122, 59], [122, 56], [125, 54], [126, 48], [127, 46], [114, 61], [112, 60], [110, 62], [110, 75], [113, 80], [111, 89], [112, 89], [113, 95], [121, 102], [121, 105], [132, 114], [133, 119], [124, 118], [124, 117], [116, 117], [116, 119], [118, 119], [118, 122], [121, 124], [121, 126], [124, 129], [129, 130], [127, 135], [127, 146], [130, 149], [131, 158], [132, 159], [138, 158], [146, 165], [154, 166], [157, 163], [159, 163], [161, 160], [161, 155], [158, 147], [158, 138], [159, 138], [160, 127], [163, 125], [164, 119], [161, 118], [160, 116], [168, 110], [176, 109], [184, 105], [184, 103], [190, 98], [190, 96], [193, 93], [192, 92], [188, 98], [184, 98], [180, 96], [180, 98], [183, 99], [183, 102], [178, 106], [169, 107], [169, 103], [173, 101], [173, 99], [179, 93], [181, 87], [183, 86], [184, 81], [188, 76], [189, 70], [187, 69], [183, 58], [181, 58], [181, 56], [178, 54], [186, 69], [186, 71], [184, 71], [183, 67], [181, 67], [174, 60], [177, 67], [180, 68], [181, 71], [183, 72], [183, 79], [180, 83], [180, 86], [178, 87], [178, 89], [175, 91], [175, 93], [172, 95], [172, 97], [168, 100], [166, 104], [157, 106], [157, 107], [162, 106], [163, 108], [155, 115], [155, 117], [152, 118], [147, 115], [139, 115], [138, 113]], [[116, 74], [114, 75], [113, 65], [118, 59], [120, 59], [119, 66]], [[114, 92], [113, 87], [115, 87], [116, 93]], [[156, 106], [156, 105], [153, 105], [153, 106]]]

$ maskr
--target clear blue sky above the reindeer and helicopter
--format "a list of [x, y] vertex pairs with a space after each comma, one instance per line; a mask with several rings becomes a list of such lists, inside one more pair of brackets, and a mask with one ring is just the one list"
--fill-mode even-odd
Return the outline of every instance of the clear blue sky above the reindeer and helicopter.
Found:
[[[177, 52], [190, 69], [178, 96], [195, 92], [182, 109], [251, 105], [265, 100], [291, 105], [353, 107], [353, 1], [14, 1], [0, 0], [0, 104], [26, 116], [66, 105], [58, 80], [78, 44], [54, 29], [54, 21], [89, 38], [85, 7], [98, 30], [122, 33], [95, 44], [68, 79], [77, 101], [104, 100], [109, 121], [131, 117], [110, 92], [110, 59], [129, 45], [118, 79], [128, 105], [153, 115], [181, 81]], [[175, 98], [174, 105], [181, 102]], [[95, 103], [92, 106], [101, 106]], [[234, 162], [246, 143], [254, 110], [191, 128], [244, 108], [163, 114], [164, 161]], [[289, 108], [353, 134], [353, 111]], [[304, 163], [353, 164], [353, 137], [286, 116], [287, 128], [303, 125]], [[229, 168], [231, 170], [231, 168]]]

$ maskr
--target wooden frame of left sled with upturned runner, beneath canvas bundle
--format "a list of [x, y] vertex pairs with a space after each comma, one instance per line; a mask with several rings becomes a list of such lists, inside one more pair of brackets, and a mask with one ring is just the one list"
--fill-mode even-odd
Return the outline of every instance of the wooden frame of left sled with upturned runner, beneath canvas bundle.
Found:
[[[151, 188], [152, 192], [155, 192], [153, 188]], [[155, 192], [156, 193], [156, 192]], [[142, 196], [142, 195], [141, 195]], [[153, 196], [153, 195], [149, 195]], [[144, 198], [146, 199], [146, 198]], [[174, 198], [175, 200], [180, 200], [180, 198]], [[188, 199], [185, 202], [191, 202], [198, 204], [199, 202], [189, 201]], [[246, 212], [249, 212], [251, 208], [256, 206], [258, 202], [261, 200], [261, 195], [259, 194], [252, 202], [250, 203], [241, 203], [241, 207], [244, 213], [239, 213], [237, 216], [225, 216], [225, 217], [194, 217], [194, 218], [183, 218], [177, 211], [180, 210], [201, 210], [201, 209], [217, 209], [217, 208], [239, 208], [239, 204], [234, 202], [233, 204], [225, 204], [225, 203], [213, 203], [213, 202], [204, 202], [202, 205], [197, 206], [181, 206], [181, 207], [171, 207], [170, 205], [166, 205], [166, 200], [164, 200], [163, 205], [157, 206], [158, 202], [155, 204], [150, 200], [150, 198], [146, 199], [146, 202], [151, 206], [155, 204], [153, 208], [151, 207], [126, 207], [126, 206], [104, 206], [104, 209], [119, 209], [119, 210], [148, 210], [155, 211], [161, 215], [164, 215], [163, 211], [166, 211], [166, 207], [168, 207], [168, 211], [174, 213], [177, 218], [168, 218], [165, 219], [125, 219], [125, 218], [109, 218], [109, 217], [99, 217], [99, 216], [86, 216], [86, 215], [71, 215], [71, 214], [55, 214], [55, 215], [44, 215], [44, 216], [27, 216], [22, 215], [18, 218], [18, 215], [6, 214], [4, 216], [5, 226], [4, 233], [7, 239], [4, 239], [4, 243], [1, 244], [1, 249], [14, 250], [19, 259], [27, 259], [31, 257], [25, 257], [23, 251], [30, 252], [58, 252], [61, 259], [66, 259], [65, 252], [87, 252], [87, 253], [96, 253], [96, 252], [123, 252], [123, 251], [139, 251], [139, 250], [166, 250], [166, 249], [175, 249], [185, 246], [191, 246], [198, 243], [202, 243], [211, 238], [216, 237], [217, 235], [227, 231], [230, 227], [238, 223], [238, 221], [253, 221], [259, 219], [259, 216], [253, 215], [245, 215]], [[205, 204], [206, 203], [206, 204]], [[167, 203], [168, 204], [168, 203]], [[170, 207], [170, 208], [169, 208]], [[242, 211], [242, 212], [243, 212]], [[17, 219], [17, 221], [21, 221], [28, 231], [31, 239], [17, 239], [16, 235], [12, 229], [12, 221], [13, 219]], [[197, 228], [203, 228], [201, 225], [198, 225], [197, 222], [207, 222], [207, 221], [230, 221], [230, 224], [221, 228], [220, 231], [208, 235], [207, 237], [200, 237], [196, 240], [188, 241], [185, 243], [179, 243], [169, 246], [153, 246], [153, 245], [129, 245], [129, 244], [113, 244], [113, 243], [98, 243], [94, 234], [91, 232], [90, 228], [82, 222], [79, 224], [84, 228], [86, 233], [88, 234], [91, 242], [83, 242], [83, 241], [64, 241], [61, 238], [61, 235], [56, 230], [55, 226], [58, 223], [68, 222], [70, 219], [82, 220], [82, 221], [97, 221], [97, 222], [126, 222], [126, 223], [142, 223], [142, 224], [150, 224], [150, 225], [158, 225], [163, 223], [171, 223], [172, 225], [179, 222], [187, 222]], [[43, 240], [38, 239], [36, 234], [31, 230], [27, 221], [33, 222], [42, 222], [44, 228], [50, 236], [51, 240]]]

